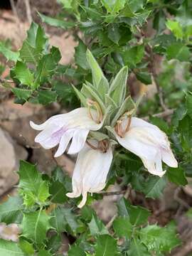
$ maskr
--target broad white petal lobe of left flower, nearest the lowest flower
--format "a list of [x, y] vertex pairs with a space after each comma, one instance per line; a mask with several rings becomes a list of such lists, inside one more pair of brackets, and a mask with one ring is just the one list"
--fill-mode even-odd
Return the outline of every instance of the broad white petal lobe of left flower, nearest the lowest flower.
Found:
[[87, 135], [90, 132], [88, 129], [77, 129], [73, 134], [73, 140], [68, 150], [68, 154], [77, 154], [84, 146]]

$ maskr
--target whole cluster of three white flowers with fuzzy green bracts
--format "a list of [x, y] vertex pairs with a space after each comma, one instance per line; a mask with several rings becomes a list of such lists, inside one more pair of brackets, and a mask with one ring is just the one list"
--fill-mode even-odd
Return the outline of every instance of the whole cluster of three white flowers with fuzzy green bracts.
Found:
[[40, 125], [31, 122], [33, 129], [41, 131], [35, 142], [45, 149], [58, 145], [55, 157], [67, 148], [68, 154], [78, 153], [73, 191], [67, 196], [77, 198], [82, 194], [80, 208], [85, 205], [88, 192], [97, 193], [105, 188], [114, 141], [139, 156], [151, 174], [164, 175], [162, 161], [174, 168], [178, 165], [166, 134], [155, 125], [133, 117], [137, 105], [130, 96], [125, 97], [127, 67], [109, 85], [89, 50], [87, 62], [92, 69], [93, 85], [87, 82], [81, 92], [74, 88], [84, 107], [50, 117]]

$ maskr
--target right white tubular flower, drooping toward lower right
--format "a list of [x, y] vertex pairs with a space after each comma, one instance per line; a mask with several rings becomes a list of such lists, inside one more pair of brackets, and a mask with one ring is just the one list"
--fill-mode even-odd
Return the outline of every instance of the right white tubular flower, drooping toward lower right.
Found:
[[[126, 129], [128, 120], [122, 120], [122, 129]], [[116, 131], [119, 144], [125, 149], [139, 156], [146, 169], [151, 174], [163, 176], [162, 162], [176, 168], [178, 166], [174, 154], [171, 151], [169, 139], [164, 132], [153, 124], [149, 124], [140, 118], [132, 117], [130, 127], [124, 137], [120, 137]]]

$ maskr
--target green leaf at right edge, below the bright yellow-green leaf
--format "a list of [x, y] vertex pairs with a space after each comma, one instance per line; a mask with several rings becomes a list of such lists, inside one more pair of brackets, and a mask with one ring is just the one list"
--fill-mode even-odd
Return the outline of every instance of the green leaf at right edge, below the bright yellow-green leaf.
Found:
[[189, 61], [191, 57], [190, 50], [183, 43], [173, 43], [166, 49], [168, 60], [176, 59], [180, 61]]

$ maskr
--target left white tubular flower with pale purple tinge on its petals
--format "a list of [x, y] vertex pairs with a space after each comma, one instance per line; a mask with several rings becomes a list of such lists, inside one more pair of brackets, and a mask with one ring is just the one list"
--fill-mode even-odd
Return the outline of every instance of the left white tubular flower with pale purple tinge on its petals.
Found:
[[[92, 116], [97, 116], [95, 110], [92, 111]], [[43, 124], [30, 125], [33, 129], [41, 132], [36, 136], [35, 142], [38, 142], [44, 149], [51, 149], [58, 146], [55, 157], [61, 156], [67, 148], [70, 139], [72, 143], [68, 150], [68, 154], [78, 153], [85, 144], [87, 135], [92, 131], [97, 131], [102, 127], [102, 122], [97, 124], [88, 114], [86, 107], [80, 107], [66, 114], [57, 114], [50, 117]]]

